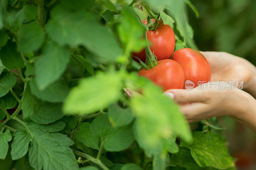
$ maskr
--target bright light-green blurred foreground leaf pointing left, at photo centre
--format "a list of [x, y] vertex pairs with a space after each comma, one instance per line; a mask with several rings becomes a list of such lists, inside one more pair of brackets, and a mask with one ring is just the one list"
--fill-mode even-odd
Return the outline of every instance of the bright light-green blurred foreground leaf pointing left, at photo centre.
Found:
[[121, 78], [117, 73], [99, 72], [95, 77], [85, 78], [69, 93], [63, 110], [67, 114], [90, 114], [107, 107], [120, 96]]

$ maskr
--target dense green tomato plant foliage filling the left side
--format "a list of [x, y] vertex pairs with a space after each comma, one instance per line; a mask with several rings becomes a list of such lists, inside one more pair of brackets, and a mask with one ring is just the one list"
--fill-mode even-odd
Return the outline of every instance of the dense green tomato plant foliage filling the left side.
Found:
[[218, 122], [191, 133], [131, 58], [148, 45], [137, 15], [159, 13], [176, 50], [196, 48], [187, 4], [195, 10], [188, 0], [1, 0], [1, 169], [233, 168]]

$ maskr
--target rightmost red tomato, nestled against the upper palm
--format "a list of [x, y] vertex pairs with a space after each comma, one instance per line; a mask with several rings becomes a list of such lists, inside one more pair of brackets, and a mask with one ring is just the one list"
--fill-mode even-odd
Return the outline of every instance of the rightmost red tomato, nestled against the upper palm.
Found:
[[[192, 81], [196, 87], [199, 81], [211, 80], [211, 67], [203, 54], [191, 48], [175, 51], [172, 60], [181, 65], [185, 74], [185, 81]], [[206, 83], [204, 82], [204, 83]], [[185, 84], [184, 87], [185, 88]]]

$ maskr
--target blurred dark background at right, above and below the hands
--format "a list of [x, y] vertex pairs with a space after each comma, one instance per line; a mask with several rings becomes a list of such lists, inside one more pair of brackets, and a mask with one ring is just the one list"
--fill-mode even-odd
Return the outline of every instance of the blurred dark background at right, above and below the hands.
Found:
[[[189, 24], [202, 51], [225, 51], [256, 65], [255, 0], [191, 0], [199, 11], [188, 8]], [[230, 117], [219, 118], [231, 155], [241, 170], [256, 169], [256, 135]]]

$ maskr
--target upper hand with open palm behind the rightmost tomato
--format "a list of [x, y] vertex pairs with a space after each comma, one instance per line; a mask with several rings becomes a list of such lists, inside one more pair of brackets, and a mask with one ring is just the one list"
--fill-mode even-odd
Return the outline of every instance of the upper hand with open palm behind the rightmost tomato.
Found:
[[243, 88], [256, 96], [256, 67], [244, 58], [226, 52], [201, 52], [208, 60], [212, 81], [244, 81]]

